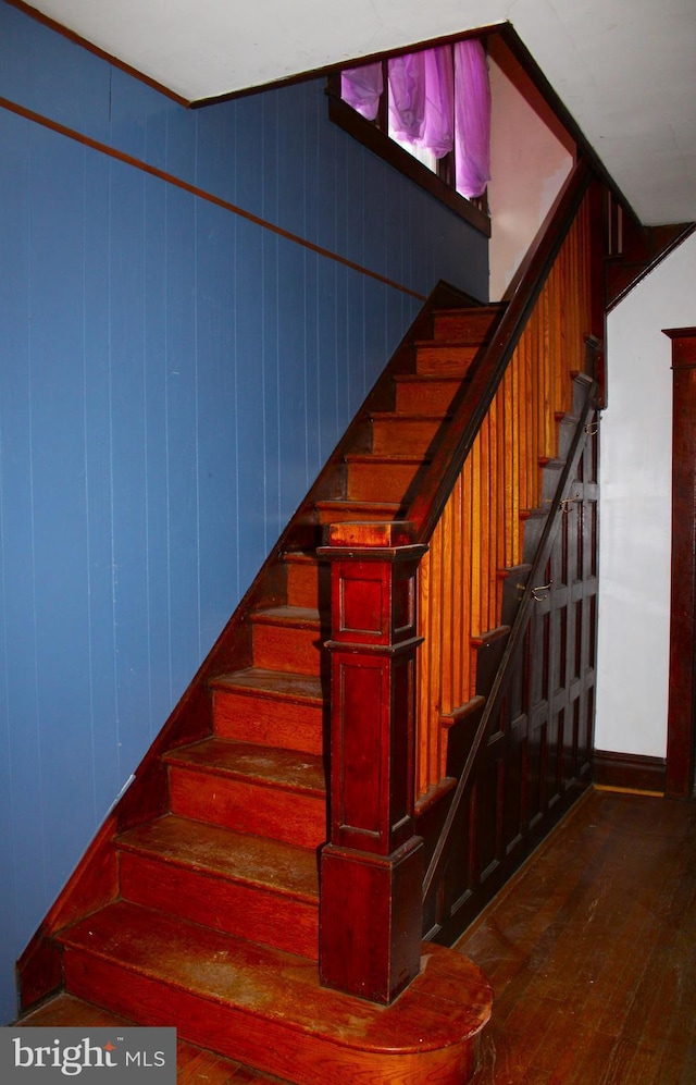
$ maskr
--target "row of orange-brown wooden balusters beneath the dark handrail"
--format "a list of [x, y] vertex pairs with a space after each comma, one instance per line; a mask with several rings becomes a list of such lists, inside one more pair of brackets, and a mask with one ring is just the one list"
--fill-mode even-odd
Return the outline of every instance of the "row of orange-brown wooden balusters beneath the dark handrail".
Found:
[[525, 522], [548, 511], [543, 467], [558, 457], [592, 332], [589, 243], [586, 196], [428, 539], [418, 595], [419, 798], [447, 776], [447, 733], [477, 694], [482, 649], [508, 629], [504, 584], [523, 564]]

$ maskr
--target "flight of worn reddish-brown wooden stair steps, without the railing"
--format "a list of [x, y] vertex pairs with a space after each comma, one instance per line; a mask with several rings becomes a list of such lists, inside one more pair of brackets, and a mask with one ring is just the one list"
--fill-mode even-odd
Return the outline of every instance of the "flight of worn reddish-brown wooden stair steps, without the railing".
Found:
[[[60, 979], [73, 998], [175, 1024], [185, 1040], [289, 1082], [445, 1085], [472, 1074], [490, 990], [461, 955], [424, 944], [420, 974], [388, 1007], [319, 983], [331, 616], [315, 547], [330, 523], [403, 516], [498, 317], [496, 307], [435, 311], [397, 352], [264, 566], [232, 643], [213, 653], [233, 666], [203, 668], [194, 718], [179, 712], [177, 732], [151, 754], [145, 814], [133, 800], [116, 813], [74, 900], [20, 962], [26, 1010]], [[84, 886], [100, 871], [111, 888], [90, 897]]]

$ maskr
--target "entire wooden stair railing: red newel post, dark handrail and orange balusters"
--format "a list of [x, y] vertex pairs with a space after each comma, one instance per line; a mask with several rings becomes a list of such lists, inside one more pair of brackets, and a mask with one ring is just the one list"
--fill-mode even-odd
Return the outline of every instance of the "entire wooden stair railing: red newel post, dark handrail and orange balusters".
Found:
[[[539, 460], [556, 455], [569, 370], [582, 367], [581, 344], [597, 316], [591, 182], [581, 162], [450, 408], [406, 521], [335, 525], [321, 550], [332, 564], [332, 764], [320, 972], [325, 984], [376, 1001], [390, 1002], [419, 972], [424, 851], [415, 792], [442, 780], [445, 710], [451, 715], [474, 696], [465, 640], [500, 624], [500, 575], [520, 562], [520, 514], [542, 503]], [[559, 313], [568, 319], [551, 319]], [[513, 430], [524, 437], [511, 440]], [[472, 559], [464, 584], [458, 570]]]

